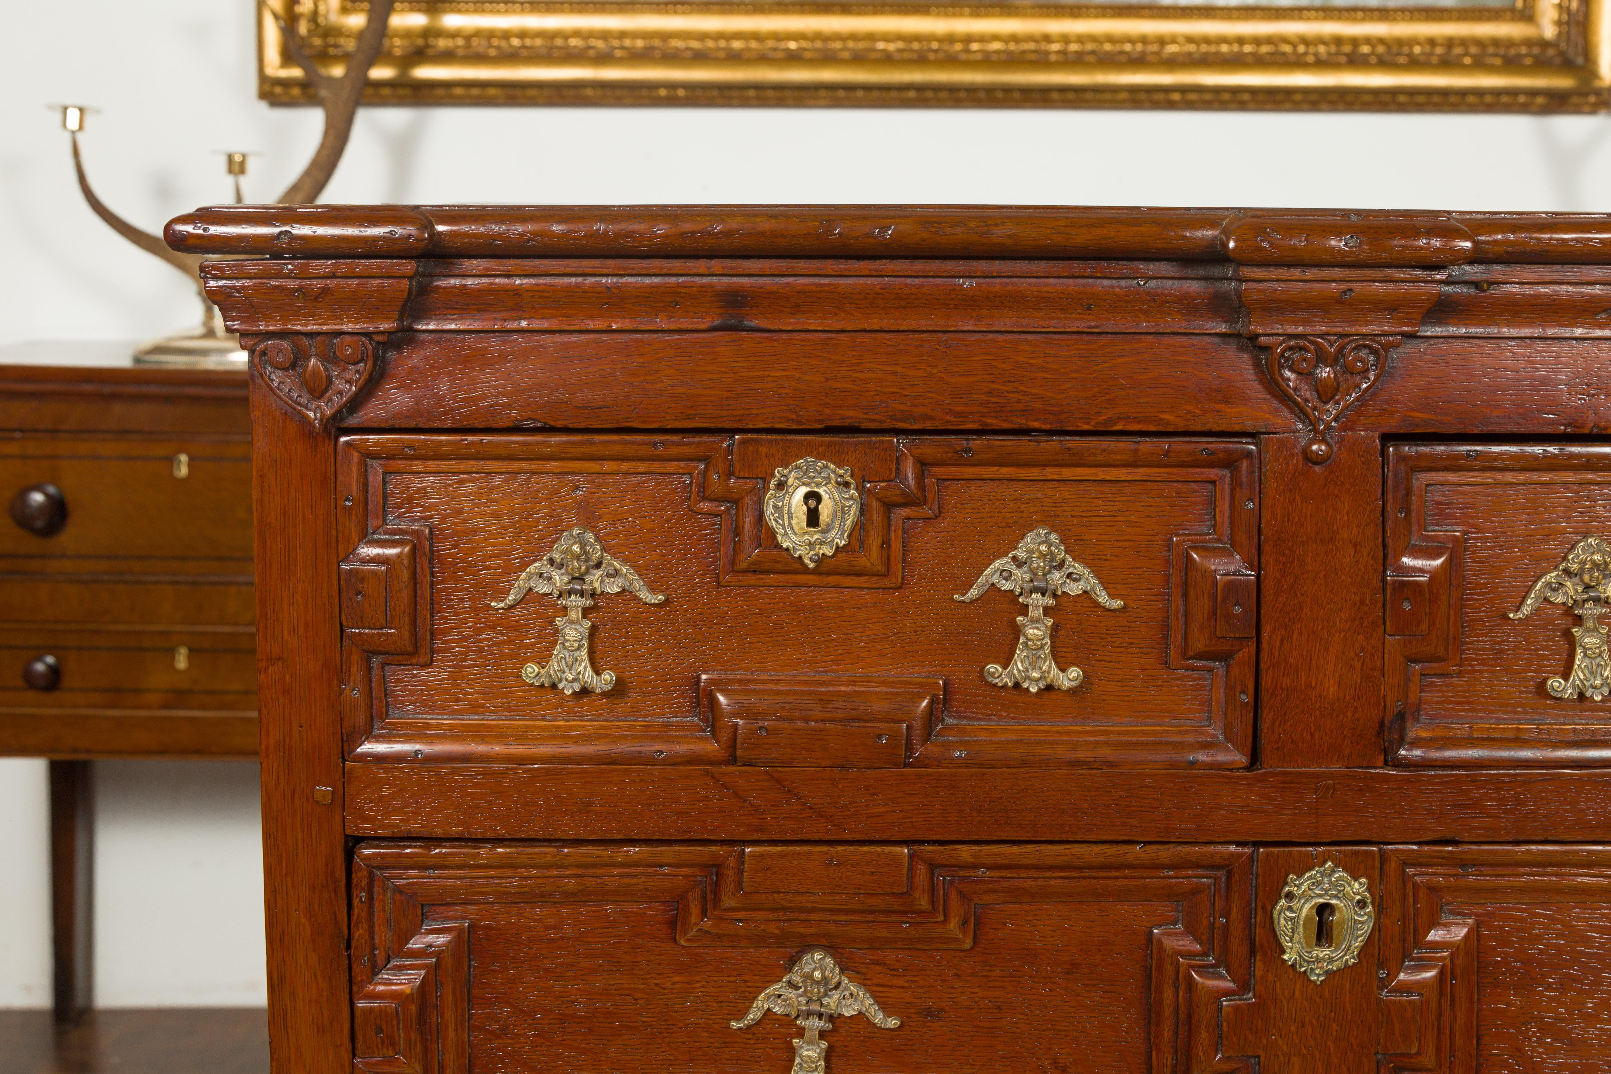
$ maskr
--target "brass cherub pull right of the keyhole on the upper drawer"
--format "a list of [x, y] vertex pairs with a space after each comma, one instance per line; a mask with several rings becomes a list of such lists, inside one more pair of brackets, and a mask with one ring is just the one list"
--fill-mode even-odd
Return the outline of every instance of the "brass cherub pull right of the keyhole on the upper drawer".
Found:
[[973, 588], [955, 599], [976, 601], [991, 586], [1017, 594], [1020, 602], [1029, 605], [1029, 613], [1018, 617], [1018, 649], [1012, 663], [1005, 668], [989, 665], [984, 678], [996, 686], [1023, 686], [1031, 694], [1046, 686], [1073, 689], [1086, 678], [1079, 668], [1060, 671], [1052, 660], [1054, 622], [1046, 618], [1044, 609], [1057, 604], [1057, 594], [1084, 593], [1108, 610], [1124, 607], [1123, 601], [1107, 594], [1089, 567], [1068, 557], [1063, 539], [1046, 527], [1031, 530], [1018, 547], [986, 567]]

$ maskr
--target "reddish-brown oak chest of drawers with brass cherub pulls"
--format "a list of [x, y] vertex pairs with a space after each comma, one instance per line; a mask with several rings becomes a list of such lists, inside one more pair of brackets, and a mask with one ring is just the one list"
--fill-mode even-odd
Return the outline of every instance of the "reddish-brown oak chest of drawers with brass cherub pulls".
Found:
[[279, 1069], [1611, 1063], [1611, 221], [168, 237], [261, 254]]

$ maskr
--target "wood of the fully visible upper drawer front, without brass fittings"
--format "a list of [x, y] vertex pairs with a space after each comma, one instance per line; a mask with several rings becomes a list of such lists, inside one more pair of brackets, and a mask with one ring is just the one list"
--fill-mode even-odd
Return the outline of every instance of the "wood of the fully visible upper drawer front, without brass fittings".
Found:
[[[733, 742], [714, 737], [701, 713], [698, 678], [793, 667], [802, 686], [946, 673], [913, 765], [1245, 763], [1257, 613], [1247, 583], [1258, 565], [1250, 444], [736, 440], [345, 440], [337, 493], [353, 501], [343, 547], [358, 551], [343, 567], [343, 622], [351, 649], [377, 654], [372, 673], [353, 675], [343, 691], [351, 755], [731, 762]], [[870, 509], [846, 559], [817, 570], [778, 549], [760, 522], [762, 478], [807, 456], [854, 465], [863, 499], [894, 506]], [[615, 601], [591, 613], [594, 663], [620, 671], [609, 694], [565, 696], [520, 680], [520, 667], [545, 662], [541, 651], [553, 647], [545, 628], [554, 605], [535, 597], [488, 609], [577, 522], [669, 594], [665, 604]], [[412, 567], [398, 562], [382, 580], [387, 568], [358, 559], [375, 559], [403, 525], [416, 530]], [[1086, 670], [1078, 692], [989, 684], [983, 668], [1010, 660], [1023, 609], [1010, 597], [952, 599], [1042, 525], [1126, 601], [1120, 613], [1079, 597], [1058, 604], [1054, 654]], [[427, 564], [429, 593], [416, 580]], [[385, 607], [411, 636], [429, 636], [430, 652], [416, 652], [398, 630], [374, 638], [372, 609], [390, 585], [400, 591]], [[854, 596], [825, 602], [823, 588]], [[416, 622], [427, 609], [429, 622]], [[350, 654], [348, 667], [358, 660]]]

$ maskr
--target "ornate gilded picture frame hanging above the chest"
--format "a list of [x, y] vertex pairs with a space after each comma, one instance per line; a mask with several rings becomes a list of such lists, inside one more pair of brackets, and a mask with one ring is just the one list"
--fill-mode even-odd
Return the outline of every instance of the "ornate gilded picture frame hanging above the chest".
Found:
[[[366, 0], [269, 0], [340, 66]], [[375, 103], [1603, 111], [1611, 0], [403, 0]], [[259, 95], [311, 101], [274, 19]]]

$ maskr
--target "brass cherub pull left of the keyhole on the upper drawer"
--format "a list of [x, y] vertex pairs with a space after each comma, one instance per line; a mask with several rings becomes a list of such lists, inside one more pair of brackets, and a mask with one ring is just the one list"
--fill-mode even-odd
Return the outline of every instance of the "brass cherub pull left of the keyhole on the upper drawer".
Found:
[[593, 671], [588, 655], [588, 634], [593, 623], [582, 618], [582, 609], [593, 607], [593, 597], [601, 593], [627, 589], [644, 604], [661, 604], [664, 594], [651, 593], [627, 564], [604, 551], [590, 530], [575, 527], [554, 543], [553, 551], [520, 572], [509, 596], [493, 601], [499, 612], [512, 609], [527, 593], [546, 593], [565, 607], [564, 618], [556, 618], [559, 641], [548, 663], [528, 663], [520, 670], [532, 686], [557, 686], [567, 694], [591, 691], [603, 694], [615, 686], [614, 671]]

